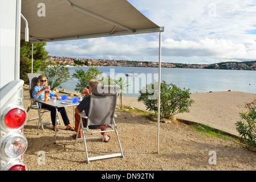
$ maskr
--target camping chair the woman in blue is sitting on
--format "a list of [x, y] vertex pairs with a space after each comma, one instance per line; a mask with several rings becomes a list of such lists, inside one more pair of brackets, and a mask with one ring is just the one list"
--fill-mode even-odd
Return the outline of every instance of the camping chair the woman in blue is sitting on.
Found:
[[[40, 125], [41, 125], [41, 128], [43, 130], [43, 126], [45, 125], [50, 125], [51, 124], [51, 121], [50, 122], [47, 122], [47, 123], [42, 123], [42, 115], [46, 112], [50, 112], [49, 110], [47, 109], [44, 109], [39, 106], [38, 100], [42, 100], [42, 98], [33, 98], [32, 97], [32, 93], [33, 93], [33, 89], [34, 89], [34, 86], [36, 85], [36, 81], [37, 81], [37, 78], [40, 76], [41, 74], [39, 73], [27, 73], [27, 78], [29, 80], [29, 94], [30, 94], [30, 101], [31, 101], [31, 104], [29, 107], [27, 107], [27, 113], [29, 112], [30, 109], [37, 109], [38, 110], [38, 115], [40, 115], [40, 117], [37, 117], [37, 118], [31, 118], [31, 119], [27, 119], [27, 121], [32, 121], [34, 119], [39, 119], [38, 120], [38, 134], [39, 134], [39, 128], [40, 128]], [[41, 111], [43, 110], [43, 111]], [[59, 118], [59, 113], [57, 112], [57, 115], [58, 115], [58, 118]], [[60, 123], [60, 119], [57, 120], [57, 122], [59, 121]]]

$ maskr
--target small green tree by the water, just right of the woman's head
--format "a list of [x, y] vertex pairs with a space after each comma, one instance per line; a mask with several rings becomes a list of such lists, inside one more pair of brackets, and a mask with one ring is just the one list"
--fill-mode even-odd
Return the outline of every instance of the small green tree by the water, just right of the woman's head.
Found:
[[61, 65], [53, 65], [52, 68], [46, 68], [44, 74], [47, 77], [47, 83], [53, 90], [59, 86], [62, 88], [61, 84], [70, 79], [70, 72], [68, 68]]

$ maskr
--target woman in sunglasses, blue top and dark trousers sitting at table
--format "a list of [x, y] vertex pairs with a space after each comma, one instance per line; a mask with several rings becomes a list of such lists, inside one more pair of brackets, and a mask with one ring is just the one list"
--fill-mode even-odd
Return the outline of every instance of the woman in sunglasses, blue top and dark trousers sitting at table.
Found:
[[[46, 90], [46, 89], [50, 90], [50, 86], [46, 86], [46, 85], [47, 85], [46, 77], [44, 75], [40, 75], [37, 79], [36, 86], [33, 89], [32, 97], [33, 98], [44, 98], [44, 90]], [[59, 98], [58, 95], [51, 92], [51, 90], [50, 90], [50, 97], [52, 97], [52, 96]], [[47, 106], [44, 104], [42, 104], [41, 107], [51, 111], [52, 129], [55, 131], [56, 109], [54, 107], [50, 107], [50, 106]], [[74, 131], [74, 128], [72, 127], [72, 125], [70, 125], [70, 120], [68, 119], [65, 107], [58, 107], [58, 111], [62, 115], [63, 122], [64, 122], [65, 126], [67, 127], [66, 130]], [[59, 131], [59, 129], [57, 128], [56, 131]]]

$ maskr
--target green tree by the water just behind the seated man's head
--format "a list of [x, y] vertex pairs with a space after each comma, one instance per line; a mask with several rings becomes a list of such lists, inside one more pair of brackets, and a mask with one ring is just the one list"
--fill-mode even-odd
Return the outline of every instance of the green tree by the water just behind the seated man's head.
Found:
[[84, 72], [83, 69], [76, 69], [75, 73], [72, 74], [72, 78], [78, 79], [78, 83], [75, 85], [75, 91], [82, 93], [83, 89], [88, 86], [91, 79], [97, 79], [97, 76], [101, 74], [97, 68], [89, 68], [87, 72]]

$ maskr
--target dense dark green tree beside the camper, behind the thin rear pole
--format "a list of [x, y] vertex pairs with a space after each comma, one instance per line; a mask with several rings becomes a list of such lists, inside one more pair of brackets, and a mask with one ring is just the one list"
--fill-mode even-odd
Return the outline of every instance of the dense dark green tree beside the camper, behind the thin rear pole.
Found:
[[[42, 67], [46, 66], [45, 62], [48, 57], [48, 52], [45, 51], [46, 43], [34, 43], [33, 46], [33, 73], [38, 73]], [[25, 42], [21, 39], [20, 48], [20, 78], [28, 83], [27, 73], [31, 73], [32, 63], [32, 42]]]

